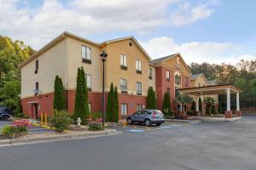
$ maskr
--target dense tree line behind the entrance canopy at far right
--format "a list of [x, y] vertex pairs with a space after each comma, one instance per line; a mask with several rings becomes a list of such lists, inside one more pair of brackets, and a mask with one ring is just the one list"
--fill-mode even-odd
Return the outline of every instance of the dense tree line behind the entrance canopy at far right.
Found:
[[[255, 108], [256, 106], [256, 59], [241, 60], [235, 65], [230, 64], [209, 64], [191, 63], [189, 65], [192, 74], [203, 73], [207, 80], [217, 80], [218, 84], [234, 84], [241, 88], [240, 94], [241, 109]], [[219, 95], [219, 103], [225, 107], [226, 96]], [[231, 95], [231, 107], [236, 108], [236, 96]]]

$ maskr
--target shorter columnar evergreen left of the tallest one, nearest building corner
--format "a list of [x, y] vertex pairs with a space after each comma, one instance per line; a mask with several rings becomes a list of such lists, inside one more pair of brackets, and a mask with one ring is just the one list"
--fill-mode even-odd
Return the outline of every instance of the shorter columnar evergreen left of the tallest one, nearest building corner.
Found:
[[61, 77], [59, 76], [55, 76], [54, 110], [67, 110], [65, 89], [63, 87]]

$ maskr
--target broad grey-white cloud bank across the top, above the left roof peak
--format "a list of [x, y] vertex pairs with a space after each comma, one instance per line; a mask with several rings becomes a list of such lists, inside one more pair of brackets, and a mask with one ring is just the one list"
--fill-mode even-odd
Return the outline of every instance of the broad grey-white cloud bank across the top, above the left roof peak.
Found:
[[212, 3], [191, 5], [186, 0], [68, 0], [65, 4], [44, 0], [36, 8], [27, 2], [0, 0], [0, 31], [34, 48], [41, 48], [62, 31], [86, 37], [117, 31], [144, 34], [160, 26], [185, 26], [210, 17], [214, 7]]

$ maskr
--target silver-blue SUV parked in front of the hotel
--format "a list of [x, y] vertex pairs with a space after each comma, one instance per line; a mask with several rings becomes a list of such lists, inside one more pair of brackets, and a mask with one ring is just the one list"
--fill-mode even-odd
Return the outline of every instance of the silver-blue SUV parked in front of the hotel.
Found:
[[140, 110], [127, 117], [128, 124], [133, 122], [145, 123], [147, 127], [151, 124], [160, 126], [161, 123], [165, 122], [165, 119], [164, 114], [159, 110]]

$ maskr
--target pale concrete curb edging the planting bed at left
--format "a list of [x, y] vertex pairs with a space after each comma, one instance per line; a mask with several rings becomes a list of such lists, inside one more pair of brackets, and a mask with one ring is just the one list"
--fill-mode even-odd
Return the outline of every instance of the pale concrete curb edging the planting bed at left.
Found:
[[0, 146], [6, 145], [15, 145], [15, 144], [32, 144], [32, 143], [40, 143], [40, 142], [51, 142], [51, 141], [58, 141], [58, 140], [69, 140], [69, 139], [86, 139], [86, 138], [96, 138], [101, 136], [110, 136], [110, 135], [117, 135], [122, 132], [116, 131], [115, 129], [111, 129], [107, 132], [101, 133], [89, 133], [89, 134], [68, 134], [68, 135], [61, 135], [61, 136], [50, 136], [45, 138], [38, 138], [38, 139], [3, 139], [0, 140]]

